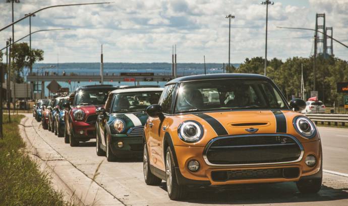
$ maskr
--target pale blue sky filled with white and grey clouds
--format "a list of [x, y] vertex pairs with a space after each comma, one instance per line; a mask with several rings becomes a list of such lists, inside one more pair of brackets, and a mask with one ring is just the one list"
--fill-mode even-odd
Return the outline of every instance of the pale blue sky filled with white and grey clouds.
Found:
[[[97, 1], [92, 1], [97, 2]], [[38, 8], [86, 3], [86, 1], [28, 0], [15, 5], [15, 19]], [[313, 28], [315, 14], [326, 14], [326, 26], [334, 37], [348, 44], [348, 1], [279, 0], [269, 6], [268, 58], [308, 57], [313, 53], [311, 31], [278, 29]], [[0, 27], [11, 22], [11, 7], [0, 2]], [[115, 0], [103, 6], [49, 9], [32, 19], [32, 31], [71, 28], [69, 31], [42, 32], [32, 36], [33, 48], [43, 49], [44, 61], [98, 62], [100, 44], [105, 62], [170, 62], [171, 48], [177, 44], [178, 62], [222, 63], [228, 61], [228, 20], [231, 22], [231, 61], [264, 56], [265, 6], [260, 1], [224, 0]], [[15, 27], [15, 39], [29, 33], [28, 21]], [[11, 29], [0, 32], [5, 46]], [[28, 42], [29, 38], [24, 41]], [[334, 43], [334, 54], [348, 60], [347, 49]], [[320, 50], [320, 48], [319, 48]]]

